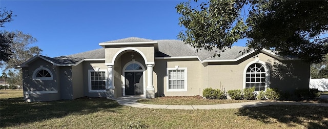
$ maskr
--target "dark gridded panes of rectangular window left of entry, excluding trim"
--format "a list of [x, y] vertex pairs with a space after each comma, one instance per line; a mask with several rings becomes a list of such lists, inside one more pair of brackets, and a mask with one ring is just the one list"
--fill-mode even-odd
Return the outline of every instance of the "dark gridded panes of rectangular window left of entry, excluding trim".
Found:
[[106, 90], [106, 72], [90, 72], [91, 90]]

